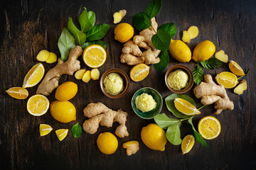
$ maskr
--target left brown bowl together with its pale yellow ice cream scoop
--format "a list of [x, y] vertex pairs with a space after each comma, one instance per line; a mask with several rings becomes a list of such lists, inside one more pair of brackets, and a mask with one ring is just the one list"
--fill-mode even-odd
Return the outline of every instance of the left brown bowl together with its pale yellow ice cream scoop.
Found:
[[129, 77], [122, 69], [109, 69], [100, 78], [103, 94], [110, 98], [120, 98], [129, 89]]

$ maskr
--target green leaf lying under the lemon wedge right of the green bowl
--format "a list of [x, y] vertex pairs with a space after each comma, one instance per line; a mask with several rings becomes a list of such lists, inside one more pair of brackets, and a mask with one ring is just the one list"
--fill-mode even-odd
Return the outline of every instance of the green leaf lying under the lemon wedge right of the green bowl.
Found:
[[196, 102], [193, 100], [193, 98], [187, 96], [186, 94], [171, 94], [164, 99], [168, 111], [173, 113], [174, 116], [176, 116], [177, 118], [191, 118], [193, 115], [192, 116], [184, 115], [183, 113], [179, 112], [175, 108], [175, 106], [174, 106], [175, 98], [183, 98], [184, 100], [188, 101], [189, 103], [193, 104], [193, 106], [196, 107]]

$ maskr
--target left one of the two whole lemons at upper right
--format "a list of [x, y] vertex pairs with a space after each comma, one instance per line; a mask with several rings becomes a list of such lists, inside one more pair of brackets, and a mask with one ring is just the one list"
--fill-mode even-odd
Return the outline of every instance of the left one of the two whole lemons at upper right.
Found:
[[171, 40], [169, 50], [171, 55], [179, 62], [189, 62], [191, 60], [191, 50], [181, 40]]

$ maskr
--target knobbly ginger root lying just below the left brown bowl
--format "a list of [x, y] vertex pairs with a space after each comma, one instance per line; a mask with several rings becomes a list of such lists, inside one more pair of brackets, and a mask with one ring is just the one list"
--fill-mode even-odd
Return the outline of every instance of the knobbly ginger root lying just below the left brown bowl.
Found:
[[100, 102], [88, 104], [83, 112], [85, 117], [90, 118], [83, 123], [85, 132], [94, 134], [97, 132], [99, 124], [110, 128], [114, 122], [118, 122], [120, 125], [115, 130], [115, 134], [118, 137], [126, 137], [129, 135], [127, 127], [125, 126], [128, 115], [127, 112], [124, 112], [121, 109], [113, 111]]

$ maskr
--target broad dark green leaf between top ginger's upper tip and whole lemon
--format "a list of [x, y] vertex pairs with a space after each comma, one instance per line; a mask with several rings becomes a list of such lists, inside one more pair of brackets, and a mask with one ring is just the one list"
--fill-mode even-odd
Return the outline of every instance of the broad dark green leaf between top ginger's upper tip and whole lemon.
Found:
[[169, 50], [171, 35], [167, 30], [159, 29], [157, 33], [152, 36], [151, 42], [158, 50]]

